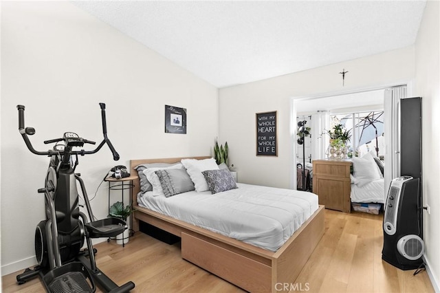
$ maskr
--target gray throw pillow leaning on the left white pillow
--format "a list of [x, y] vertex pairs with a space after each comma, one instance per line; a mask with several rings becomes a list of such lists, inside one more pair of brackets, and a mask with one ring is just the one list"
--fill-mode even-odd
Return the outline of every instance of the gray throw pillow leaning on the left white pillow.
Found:
[[186, 169], [158, 170], [155, 173], [159, 177], [165, 197], [195, 190], [194, 183], [192, 183]]

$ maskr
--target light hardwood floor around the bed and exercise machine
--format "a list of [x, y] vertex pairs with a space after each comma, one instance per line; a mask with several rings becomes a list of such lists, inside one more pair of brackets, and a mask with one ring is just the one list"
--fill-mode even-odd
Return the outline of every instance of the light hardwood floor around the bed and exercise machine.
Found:
[[[382, 261], [382, 215], [325, 210], [325, 227], [298, 279], [280, 292], [434, 292], [425, 271], [413, 276]], [[142, 232], [124, 248], [114, 241], [95, 247], [98, 268], [118, 284], [133, 281], [133, 292], [243, 292], [181, 259], [179, 244]], [[44, 292], [38, 278], [17, 285], [18, 273], [2, 277], [3, 292]]]

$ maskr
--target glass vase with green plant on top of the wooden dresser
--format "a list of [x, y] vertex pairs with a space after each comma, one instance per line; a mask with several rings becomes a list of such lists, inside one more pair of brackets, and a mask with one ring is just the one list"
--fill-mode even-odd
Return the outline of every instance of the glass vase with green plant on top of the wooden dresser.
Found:
[[344, 125], [336, 124], [333, 129], [324, 132], [330, 137], [330, 144], [325, 154], [327, 158], [334, 160], [344, 160], [348, 158], [348, 142], [351, 138], [350, 131], [344, 129]]

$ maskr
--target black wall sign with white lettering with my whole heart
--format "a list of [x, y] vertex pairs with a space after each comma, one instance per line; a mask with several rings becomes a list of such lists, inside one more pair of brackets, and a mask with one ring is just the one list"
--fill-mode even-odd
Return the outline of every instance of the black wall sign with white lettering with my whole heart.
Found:
[[256, 155], [278, 156], [276, 111], [256, 113]]

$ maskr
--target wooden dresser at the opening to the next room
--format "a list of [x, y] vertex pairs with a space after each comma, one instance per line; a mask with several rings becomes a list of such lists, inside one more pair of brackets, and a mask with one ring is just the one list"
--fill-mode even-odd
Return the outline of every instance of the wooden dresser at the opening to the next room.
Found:
[[349, 160], [314, 160], [313, 188], [319, 204], [331, 210], [351, 212]]

